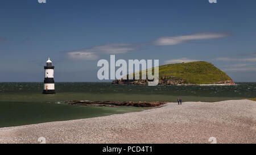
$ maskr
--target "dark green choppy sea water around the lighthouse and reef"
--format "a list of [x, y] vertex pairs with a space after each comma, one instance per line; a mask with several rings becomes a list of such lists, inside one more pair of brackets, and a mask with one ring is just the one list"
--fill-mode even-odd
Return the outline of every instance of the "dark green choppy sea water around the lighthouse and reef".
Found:
[[142, 111], [138, 107], [90, 107], [65, 104], [67, 100], [131, 100], [216, 102], [255, 98], [256, 83], [236, 86], [112, 85], [102, 82], [57, 82], [56, 94], [42, 94], [42, 82], [0, 83], [0, 127], [59, 120], [92, 118]]

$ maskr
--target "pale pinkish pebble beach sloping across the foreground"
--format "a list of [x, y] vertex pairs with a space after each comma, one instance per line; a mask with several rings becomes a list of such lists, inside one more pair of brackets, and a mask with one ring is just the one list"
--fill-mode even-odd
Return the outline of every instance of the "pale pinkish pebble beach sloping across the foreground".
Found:
[[98, 118], [0, 128], [0, 143], [256, 143], [256, 102], [167, 103]]

